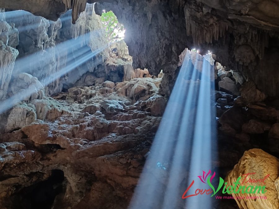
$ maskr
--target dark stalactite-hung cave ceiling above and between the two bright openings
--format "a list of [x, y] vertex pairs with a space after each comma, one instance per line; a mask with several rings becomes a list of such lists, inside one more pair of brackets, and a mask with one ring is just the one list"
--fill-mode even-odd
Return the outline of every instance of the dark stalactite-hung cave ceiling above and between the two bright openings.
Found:
[[[72, 21], [94, 0], [0, 0], [0, 7], [26, 10], [57, 20], [72, 9]], [[270, 96], [279, 96], [277, 62], [266, 66], [270, 54], [279, 55], [279, 0], [100, 0], [97, 14], [112, 10], [126, 28], [125, 42], [133, 56], [133, 67], [167, 73], [162, 94], [170, 94], [178, 55], [185, 49], [211, 50], [216, 59], [252, 80]], [[242, 56], [242, 54], [245, 54]], [[249, 78], [249, 79], [248, 79]], [[269, 84], [267, 86], [267, 83]]]

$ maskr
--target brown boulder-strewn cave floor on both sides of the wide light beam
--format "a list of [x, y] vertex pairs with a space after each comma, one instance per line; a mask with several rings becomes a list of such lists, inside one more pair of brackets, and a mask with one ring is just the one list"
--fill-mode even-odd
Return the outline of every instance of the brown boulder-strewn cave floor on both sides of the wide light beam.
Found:
[[[105, 81], [14, 107], [0, 136], [1, 208], [126, 208], [166, 106], [161, 80]], [[275, 104], [242, 107], [256, 94], [246, 85], [237, 99], [213, 95], [220, 176], [251, 148], [278, 157]], [[15, 130], [18, 118], [33, 122]], [[238, 206], [227, 200], [216, 208]]]

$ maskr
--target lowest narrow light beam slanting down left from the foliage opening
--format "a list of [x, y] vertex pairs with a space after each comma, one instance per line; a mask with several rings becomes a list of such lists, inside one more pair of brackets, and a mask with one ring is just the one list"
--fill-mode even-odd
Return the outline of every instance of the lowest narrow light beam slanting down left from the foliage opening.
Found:
[[[101, 51], [103, 51], [108, 46], [103, 46], [95, 51], [87, 50], [86, 53], [79, 54], [78, 57], [72, 60], [69, 64], [67, 64], [65, 67], [60, 69], [59, 71], [55, 72], [54, 74], [51, 74], [50, 76], [47, 76], [45, 79], [41, 81], [43, 86], [47, 86], [52, 81], [55, 81], [56, 79], [60, 78], [61, 76], [65, 75], [66, 73], [72, 71], [76, 67], [80, 66], [81, 64], [85, 63], [87, 60], [93, 58], [96, 54], [99, 54]], [[37, 91], [34, 86], [30, 85], [28, 89], [24, 90], [23, 92], [19, 94], [13, 95], [11, 98], [8, 98], [0, 103], [0, 114], [7, 111], [11, 107], [13, 107], [15, 104], [17, 104], [20, 101], [25, 100], [26, 98], [29, 98], [33, 93]]]

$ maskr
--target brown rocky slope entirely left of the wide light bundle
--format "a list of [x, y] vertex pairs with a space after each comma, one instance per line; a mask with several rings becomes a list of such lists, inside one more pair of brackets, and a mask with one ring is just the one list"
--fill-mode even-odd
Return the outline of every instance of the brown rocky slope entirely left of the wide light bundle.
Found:
[[[12, 108], [1, 135], [1, 208], [39, 207], [43, 200], [34, 192], [57, 192], [43, 186], [51, 186], [56, 172], [61, 191], [46, 197], [54, 207], [80, 208], [88, 202], [96, 208], [127, 207], [166, 104], [158, 100], [160, 80], [73, 87]], [[153, 89], [144, 97], [126, 89], [130, 98], [117, 90], [123, 85]], [[117, 194], [109, 200], [104, 194], [113, 191]]]

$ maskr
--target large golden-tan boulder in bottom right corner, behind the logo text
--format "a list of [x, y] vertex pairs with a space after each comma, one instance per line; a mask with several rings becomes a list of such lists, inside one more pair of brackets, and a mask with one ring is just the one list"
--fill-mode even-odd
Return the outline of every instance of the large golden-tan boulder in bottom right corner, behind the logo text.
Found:
[[[225, 179], [228, 185], [233, 185], [240, 176], [242, 182], [247, 175], [244, 186], [265, 186], [265, 193], [259, 194], [245, 194], [245, 198], [241, 198], [243, 194], [232, 193], [239, 208], [243, 209], [258, 209], [258, 208], [271, 208], [276, 209], [279, 207], [279, 190], [278, 190], [278, 176], [279, 176], [279, 160], [269, 155], [260, 149], [251, 149], [245, 151], [239, 162], [234, 166]], [[264, 179], [263, 183], [253, 183], [249, 179], [260, 180]], [[247, 181], [248, 182], [247, 182]], [[239, 185], [237, 186], [239, 188]], [[265, 196], [266, 199], [259, 198]], [[248, 198], [246, 198], [248, 197]], [[254, 197], [254, 198], [253, 198]], [[258, 198], [256, 198], [258, 197]]]

